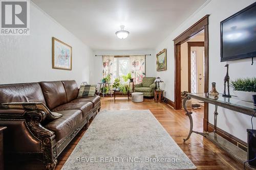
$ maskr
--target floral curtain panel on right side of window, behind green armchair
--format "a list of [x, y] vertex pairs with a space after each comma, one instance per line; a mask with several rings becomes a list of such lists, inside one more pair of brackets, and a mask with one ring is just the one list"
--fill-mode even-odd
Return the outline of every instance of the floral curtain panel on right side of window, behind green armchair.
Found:
[[134, 84], [141, 83], [142, 78], [146, 76], [145, 55], [130, 56], [130, 68]]

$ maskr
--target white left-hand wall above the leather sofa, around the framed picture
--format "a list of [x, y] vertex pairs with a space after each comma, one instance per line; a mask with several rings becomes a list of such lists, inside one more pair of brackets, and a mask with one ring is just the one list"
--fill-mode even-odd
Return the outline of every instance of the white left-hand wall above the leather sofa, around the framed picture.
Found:
[[[73, 47], [72, 70], [52, 69], [52, 37]], [[0, 84], [76, 80], [90, 82], [91, 49], [33, 3], [30, 35], [0, 36]]]

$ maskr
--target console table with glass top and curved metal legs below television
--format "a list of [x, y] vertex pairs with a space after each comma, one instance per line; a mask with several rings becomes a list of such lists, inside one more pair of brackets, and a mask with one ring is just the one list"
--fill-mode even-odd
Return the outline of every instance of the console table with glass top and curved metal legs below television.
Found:
[[[203, 101], [205, 103], [215, 105], [215, 112], [214, 112], [214, 132], [197, 132], [193, 130], [193, 118], [191, 116], [192, 112], [188, 111], [186, 108], [186, 101], [190, 100], [191, 98]], [[231, 98], [224, 98], [222, 94], [219, 94], [218, 99], [214, 98], [214, 96], [210, 96], [208, 93], [187, 93], [187, 97], [183, 101], [183, 107], [186, 111], [186, 115], [189, 118], [190, 122], [190, 129], [189, 134], [186, 139], [183, 139], [184, 142], [189, 139], [191, 133], [197, 133], [203, 135], [211, 142], [215, 143], [217, 147], [222, 149], [223, 151], [227, 152], [231, 157], [237, 159], [241, 163], [247, 161], [247, 152], [238, 148], [236, 145], [230, 143], [228, 140], [224, 139], [217, 132], [217, 116], [218, 116], [218, 107], [223, 107], [229, 110], [237, 111], [243, 114], [247, 114], [249, 116], [256, 117], [256, 106], [253, 106], [253, 103], [244, 102], [239, 100], [236, 96], [232, 96]], [[246, 132], [246, 131], [245, 131]], [[256, 169], [255, 167], [249, 166], [246, 163], [247, 168], [249, 169]]]

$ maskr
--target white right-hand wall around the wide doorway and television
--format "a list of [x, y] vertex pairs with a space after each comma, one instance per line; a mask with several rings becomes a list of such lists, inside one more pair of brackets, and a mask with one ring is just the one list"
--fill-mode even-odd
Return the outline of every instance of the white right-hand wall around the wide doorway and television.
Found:
[[[220, 21], [254, 3], [254, 0], [214, 0], [189, 17], [179, 28], [170, 33], [166, 39], [157, 46], [156, 54], [167, 48], [167, 70], [157, 72], [157, 76], [164, 81], [166, 98], [174, 101], [174, 42], [173, 39], [209, 14], [209, 89], [211, 82], [217, 83], [217, 90], [223, 92], [223, 79], [226, 74], [224, 65], [220, 62]], [[251, 65], [251, 59], [229, 61], [230, 79], [255, 77], [256, 64]], [[209, 122], [214, 123], [214, 106], [209, 106]], [[246, 128], [251, 128], [250, 116], [219, 108], [217, 126], [226, 132], [247, 140]], [[256, 126], [254, 120], [254, 126]]]

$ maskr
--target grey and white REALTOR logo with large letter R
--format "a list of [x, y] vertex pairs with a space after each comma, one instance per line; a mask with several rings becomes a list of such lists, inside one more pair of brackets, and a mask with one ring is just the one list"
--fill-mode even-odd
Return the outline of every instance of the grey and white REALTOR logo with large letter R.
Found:
[[0, 0], [0, 35], [29, 35], [29, 6], [27, 0]]

